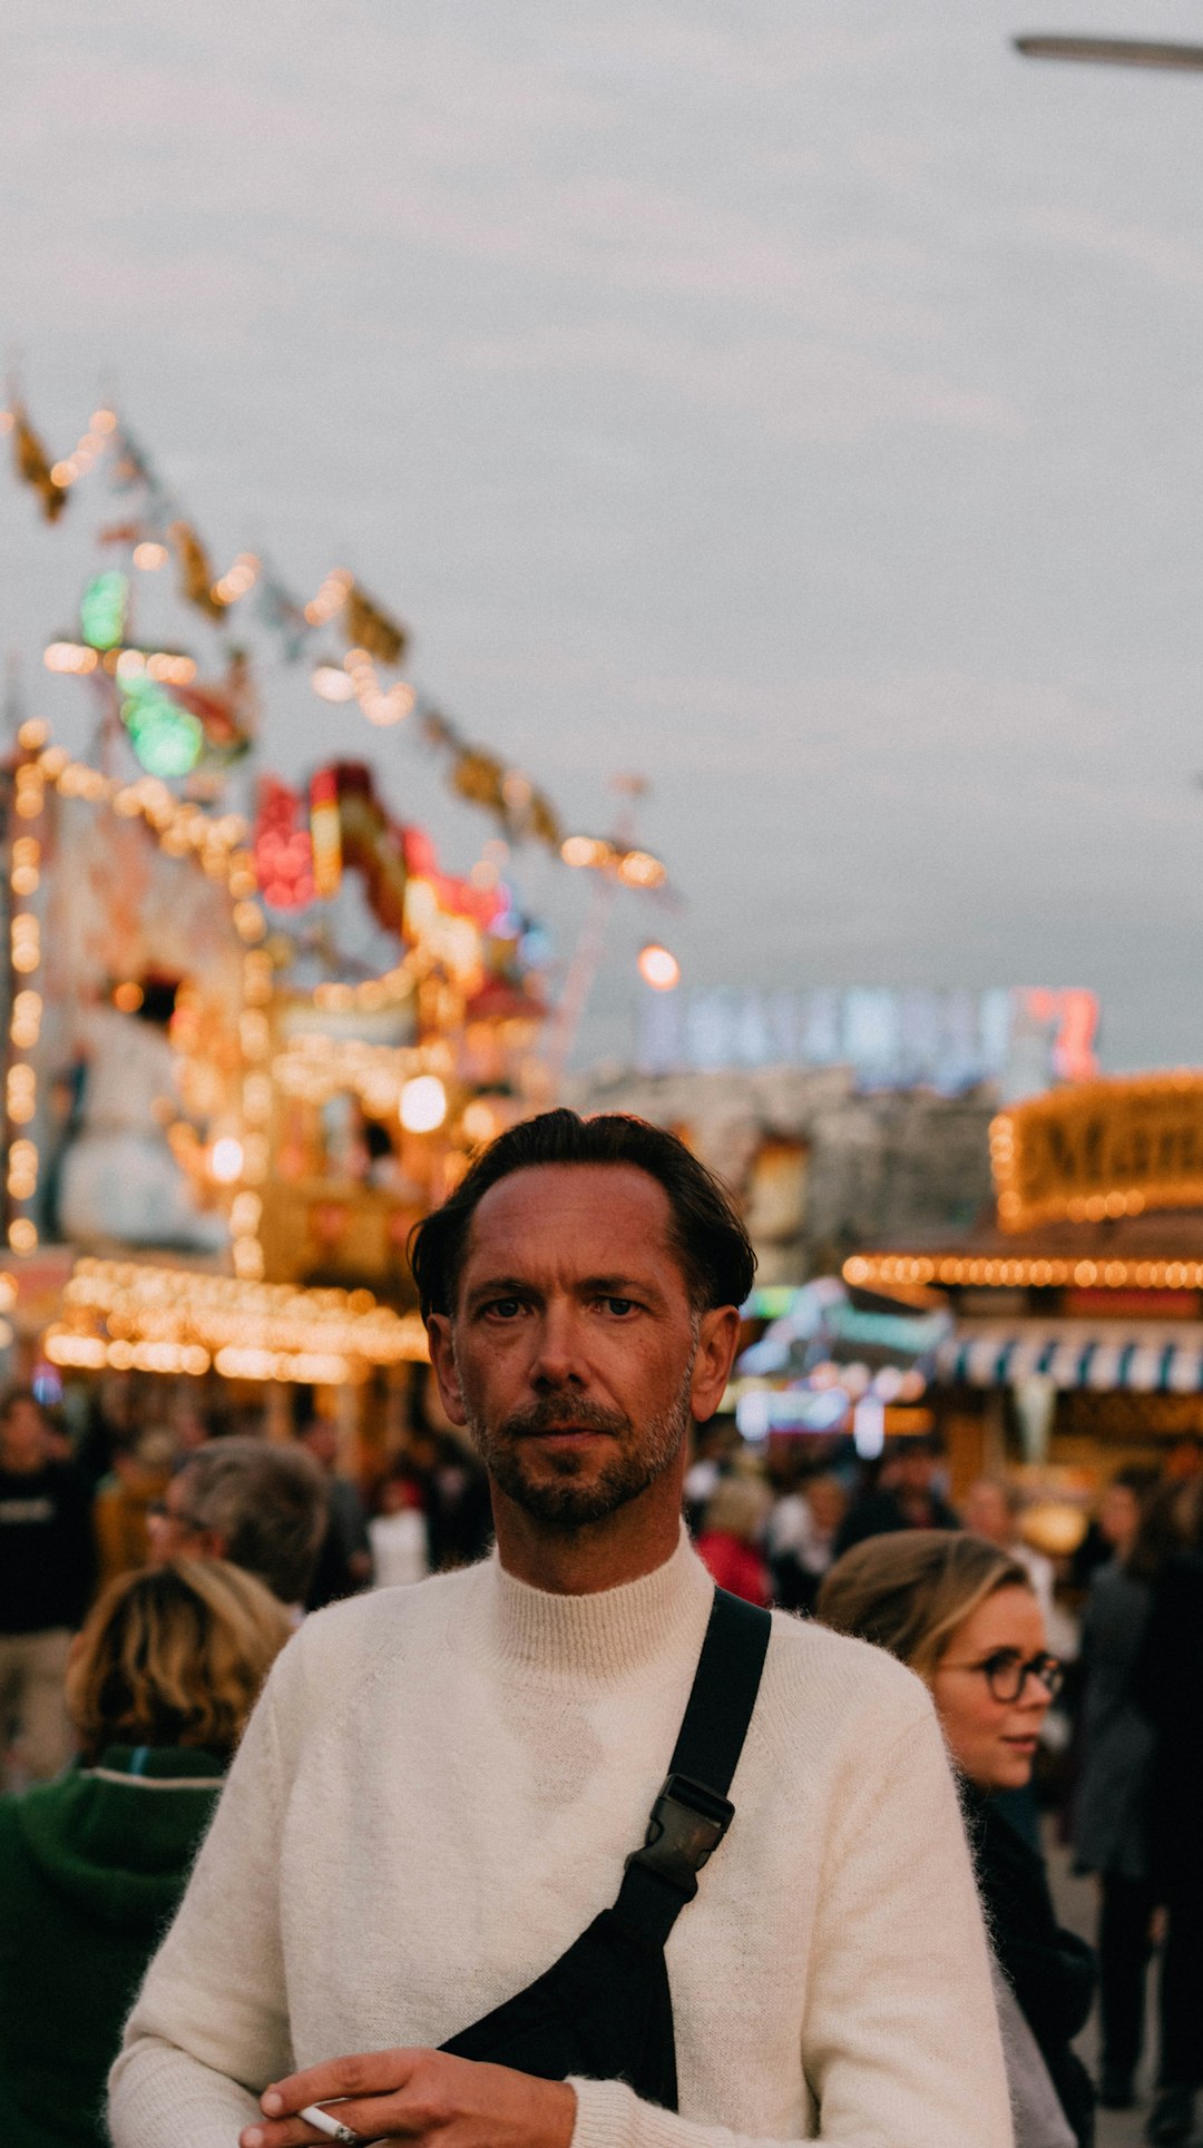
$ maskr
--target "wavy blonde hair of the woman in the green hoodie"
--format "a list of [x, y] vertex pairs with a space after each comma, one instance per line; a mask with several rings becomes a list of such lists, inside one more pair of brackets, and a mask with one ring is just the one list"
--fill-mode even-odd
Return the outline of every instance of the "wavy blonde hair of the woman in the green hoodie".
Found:
[[204, 1746], [228, 1759], [290, 1632], [271, 1590], [226, 1559], [118, 1574], [67, 1669], [84, 1759], [110, 1744]]

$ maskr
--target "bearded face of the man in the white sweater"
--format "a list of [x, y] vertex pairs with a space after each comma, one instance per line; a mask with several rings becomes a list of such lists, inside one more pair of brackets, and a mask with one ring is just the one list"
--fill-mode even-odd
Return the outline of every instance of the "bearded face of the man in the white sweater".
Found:
[[737, 1317], [694, 1315], [670, 1220], [632, 1164], [516, 1171], [473, 1216], [455, 1317], [430, 1321], [443, 1407], [548, 1527], [653, 1484], [679, 1506], [685, 1431], [718, 1407]]

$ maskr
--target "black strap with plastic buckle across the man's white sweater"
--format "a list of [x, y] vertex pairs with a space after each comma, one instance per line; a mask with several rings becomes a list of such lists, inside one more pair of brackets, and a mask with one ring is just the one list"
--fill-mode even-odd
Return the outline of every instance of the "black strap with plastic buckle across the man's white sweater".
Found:
[[715, 1590], [668, 1776], [614, 1903], [614, 1916], [657, 1948], [735, 1819], [726, 1794], [760, 1690], [771, 1624], [767, 1611]]

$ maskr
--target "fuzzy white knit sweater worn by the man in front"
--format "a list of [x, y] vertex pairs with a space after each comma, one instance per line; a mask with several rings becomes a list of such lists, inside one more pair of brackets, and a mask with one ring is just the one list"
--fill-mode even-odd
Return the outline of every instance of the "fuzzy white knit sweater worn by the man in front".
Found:
[[[309, 1620], [277, 1660], [112, 2075], [116, 2148], [234, 2148], [251, 2092], [438, 2045], [619, 1892], [711, 1605], [496, 1559]], [[668, 1940], [681, 2114], [576, 2081], [574, 2148], [1012, 2148], [939, 1727], [889, 1656], [776, 1615], [735, 1822]]]

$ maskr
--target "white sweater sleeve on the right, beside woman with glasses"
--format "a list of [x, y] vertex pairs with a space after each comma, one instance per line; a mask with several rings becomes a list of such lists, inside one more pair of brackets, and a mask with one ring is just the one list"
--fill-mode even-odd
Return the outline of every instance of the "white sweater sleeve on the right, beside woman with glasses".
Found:
[[[812, 2137], [831, 2148], [1012, 2148], [982, 1910], [926, 1701], [864, 1770], [827, 1843], [801, 2071]], [[621, 2081], [571, 2086], [571, 2148], [769, 2148]]]

